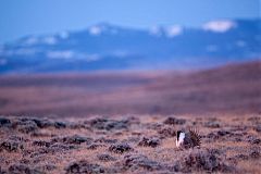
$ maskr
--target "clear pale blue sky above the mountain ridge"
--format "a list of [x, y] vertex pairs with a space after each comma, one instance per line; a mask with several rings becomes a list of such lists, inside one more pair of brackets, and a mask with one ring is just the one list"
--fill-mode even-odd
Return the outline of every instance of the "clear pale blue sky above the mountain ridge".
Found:
[[260, 0], [0, 0], [0, 42], [108, 22], [147, 28], [260, 17]]

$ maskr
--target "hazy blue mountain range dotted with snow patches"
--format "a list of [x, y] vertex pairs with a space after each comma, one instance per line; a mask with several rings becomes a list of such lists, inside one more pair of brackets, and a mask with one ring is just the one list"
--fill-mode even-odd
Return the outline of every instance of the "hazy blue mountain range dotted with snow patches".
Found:
[[261, 20], [134, 29], [98, 24], [0, 46], [0, 73], [199, 69], [261, 58]]

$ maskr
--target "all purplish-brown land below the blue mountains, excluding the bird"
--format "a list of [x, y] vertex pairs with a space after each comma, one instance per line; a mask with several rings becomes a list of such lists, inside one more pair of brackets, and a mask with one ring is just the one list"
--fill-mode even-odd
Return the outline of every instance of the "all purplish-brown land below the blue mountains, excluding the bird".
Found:
[[[201, 146], [178, 149], [176, 130]], [[261, 62], [0, 76], [0, 173], [261, 173]]]

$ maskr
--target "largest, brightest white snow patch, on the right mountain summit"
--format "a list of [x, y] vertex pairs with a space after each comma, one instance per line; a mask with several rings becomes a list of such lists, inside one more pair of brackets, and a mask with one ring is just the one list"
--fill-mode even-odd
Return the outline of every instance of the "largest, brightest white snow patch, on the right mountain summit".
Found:
[[214, 33], [225, 33], [236, 26], [236, 23], [233, 21], [212, 21], [202, 26], [204, 30], [210, 30]]

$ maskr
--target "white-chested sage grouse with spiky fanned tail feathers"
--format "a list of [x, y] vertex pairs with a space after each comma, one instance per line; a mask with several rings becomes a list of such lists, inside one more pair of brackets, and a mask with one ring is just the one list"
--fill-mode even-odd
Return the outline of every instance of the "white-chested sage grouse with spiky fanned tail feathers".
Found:
[[189, 149], [200, 147], [200, 136], [196, 129], [176, 132], [176, 147], [181, 149]]

